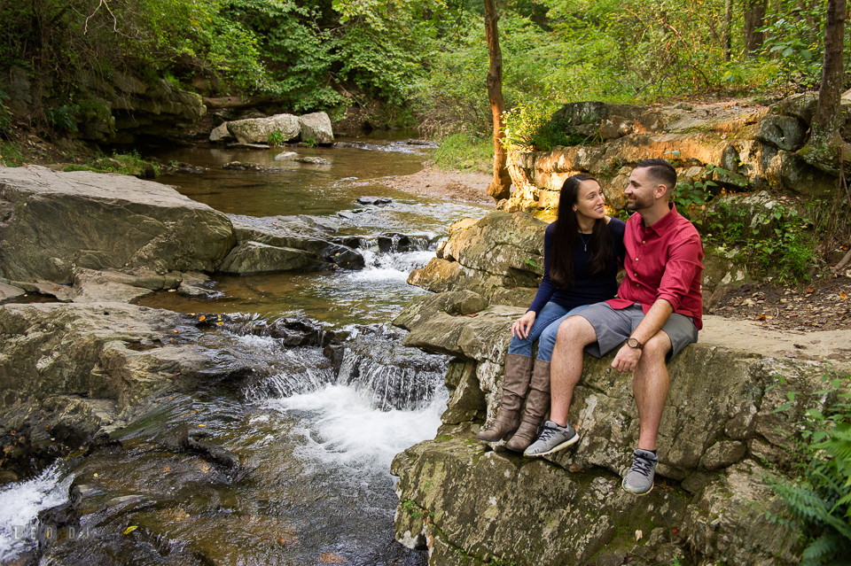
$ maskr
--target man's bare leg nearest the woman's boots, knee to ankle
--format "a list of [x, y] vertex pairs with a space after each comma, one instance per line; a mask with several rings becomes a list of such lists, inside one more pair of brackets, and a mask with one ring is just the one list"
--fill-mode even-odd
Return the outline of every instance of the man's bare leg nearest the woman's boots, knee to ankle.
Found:
[[556, 346], [550, 361], [550, 421], [566, 426], [574, 387], [582, 377], [582, 352], [597, 341], [597, 332], [582, 316], [571, 316], [558, 325]]

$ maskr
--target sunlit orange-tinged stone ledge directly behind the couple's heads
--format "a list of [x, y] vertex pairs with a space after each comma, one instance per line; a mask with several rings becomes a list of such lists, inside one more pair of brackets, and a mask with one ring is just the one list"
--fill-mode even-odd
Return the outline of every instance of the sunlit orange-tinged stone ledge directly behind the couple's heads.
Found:
[[[608, 204], [622, 208], [632, 166], [649, 158], [674, 161], [681, 181], [712, 181], [733, 192], [774, 189], [830, 195], [836, 177], [796, 154], [806, 141], [814, 100], [807, 93], [769, 107], [567, 104], [554, 119], [572, 124], [588, 144], [553, 151], [511, 146], [508, 165], [516, 190], [500, 207], [545, 216], [558, 205], [558, 190], [568, 176], [589, 173], [600, 181]], [[851, 115], [851, 94], [842, 104], [843, 116]]]

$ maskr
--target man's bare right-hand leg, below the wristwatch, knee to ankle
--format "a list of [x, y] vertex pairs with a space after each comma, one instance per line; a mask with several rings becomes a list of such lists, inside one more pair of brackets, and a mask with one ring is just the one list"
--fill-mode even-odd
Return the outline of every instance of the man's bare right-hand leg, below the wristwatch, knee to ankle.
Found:
[[659, 434], [665, 399], [668, 398], [665, 356], [670, 350], [671, 339], [660, 330], [644, 345], [633, 377], [632, 393], [638, 406], [638, 447], [643, 450], [656, 450], [656, 436]]

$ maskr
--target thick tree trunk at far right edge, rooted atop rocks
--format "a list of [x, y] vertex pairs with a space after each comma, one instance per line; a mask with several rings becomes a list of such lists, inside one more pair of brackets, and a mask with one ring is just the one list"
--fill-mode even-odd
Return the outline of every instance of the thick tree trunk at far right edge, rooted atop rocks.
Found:
[[[828, 0], [824, 23], [822, 85], [818, 89], [816, 115], [807, 143], [798, 155], [810, 165], [837, 174], [851, 161], [851, 146], [839, 134], [843, 72], [843, 39], [847, 19], [846, 0]], [[841, 148], [841, 151], [840, 151]]]

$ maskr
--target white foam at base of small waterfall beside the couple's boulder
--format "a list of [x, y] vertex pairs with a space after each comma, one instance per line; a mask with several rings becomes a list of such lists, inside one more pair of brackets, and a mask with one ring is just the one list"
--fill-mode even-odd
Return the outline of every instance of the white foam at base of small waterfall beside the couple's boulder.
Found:
[[396, 454], [428, 438], [441, 425], [448, 399], [445, 390], [418, 411], [371, 408], [371, 398], [348, 385], [326, 385], [315, 392], [267, 405], [280, 411], [299, 410], [311, 414], [305, 426], [295, 430], [306, 443], [297, 449], [308, 461], [383, 472], [389, 476]]

